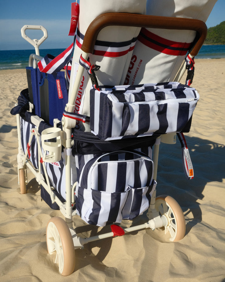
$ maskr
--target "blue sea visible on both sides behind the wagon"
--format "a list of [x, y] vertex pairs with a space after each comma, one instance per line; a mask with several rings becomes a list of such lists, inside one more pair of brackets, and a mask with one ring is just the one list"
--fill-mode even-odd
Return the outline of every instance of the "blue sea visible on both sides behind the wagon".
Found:
[[[40, 49], [40, 56], [46, 54], [59, 55], [64, 49]], [[28, 66], [29, 55], [33, 50], [8, 50], [0, 51], [0, 70], [24, 69]], [[203, 45], [196, 59], [225, 58], [225, 45]]]

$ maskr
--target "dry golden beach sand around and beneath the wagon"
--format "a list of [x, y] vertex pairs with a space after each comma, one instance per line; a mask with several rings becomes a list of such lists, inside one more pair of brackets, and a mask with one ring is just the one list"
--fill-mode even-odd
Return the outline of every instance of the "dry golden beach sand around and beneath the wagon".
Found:
[[[161, 145], [157, 177], [157, 195], [168, 194], [182, 207], [185, 237], [172, 243], [162, 230], [146, 229], [89, 243], [75, 251], [75, 270], [69, 277], [58, 273], [47, 254], [47, 222], [53, 216], [62, 217], [61, 213], [41, 202], [40, 187], [31, 173], [28, 193], [19, 194], [16, 118], [10, 109], [27, 87], [26, 71], [0, 71], [1, 282], [224, 281], [225, 59], [196, 59], [195, 66], [192, 85], [200, 100], [191, 131], [185, 134], [194, 179], [185, 178], [179, 142]], [[78, 217], [74, 223], [80, 236], [102, 232]]]

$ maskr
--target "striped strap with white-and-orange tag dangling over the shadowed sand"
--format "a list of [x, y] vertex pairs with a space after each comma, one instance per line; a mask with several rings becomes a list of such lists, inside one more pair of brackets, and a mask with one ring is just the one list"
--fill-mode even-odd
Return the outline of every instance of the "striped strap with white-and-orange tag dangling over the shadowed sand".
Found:
[[183, 133], [177, 133], [178, 139], [181, 143], [182, 148], [182, 161], [183, 161], [183, 168], [187, 179], [191, 180], [194, 177], [193, 166], [191, 162], [191, 158], [189, 155], [188, 146], [184, 137]]

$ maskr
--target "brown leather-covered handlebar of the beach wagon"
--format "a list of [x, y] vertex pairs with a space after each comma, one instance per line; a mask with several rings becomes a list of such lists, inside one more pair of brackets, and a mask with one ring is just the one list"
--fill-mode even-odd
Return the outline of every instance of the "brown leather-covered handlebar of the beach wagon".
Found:
[[[163, 16], [147, 16], [130, 13], [105, 13], [93, 20], [84, 37], [81, 50], [86, 53], [94, 52], [94, 45], [99, 31], [107, 26], [127, 26], [127, 27], [151, 27], [174, 30], [195, 30], [199, 34], [194, 40], [194, 47], [190, 52], [196, 56], [202, 47], [206, 35], [206, 24], [201, 20], [188, 18], [174, 18]], [[193, 46], [193, 45], [192, 45]]]

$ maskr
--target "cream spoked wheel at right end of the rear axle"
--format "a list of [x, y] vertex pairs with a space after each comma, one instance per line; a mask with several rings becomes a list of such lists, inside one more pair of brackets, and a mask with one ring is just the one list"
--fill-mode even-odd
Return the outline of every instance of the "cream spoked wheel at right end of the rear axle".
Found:
[[155, 199], [155, 208], [160, 216], [167, 218], [168, 224], [164, 226], [165, 234], [169, 231], [170, 241], [179, 241], [185, 236], [186, 224], [184, 214], [178, 202], [167, 195]]

